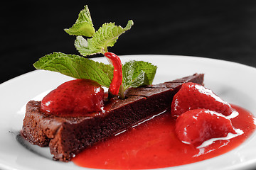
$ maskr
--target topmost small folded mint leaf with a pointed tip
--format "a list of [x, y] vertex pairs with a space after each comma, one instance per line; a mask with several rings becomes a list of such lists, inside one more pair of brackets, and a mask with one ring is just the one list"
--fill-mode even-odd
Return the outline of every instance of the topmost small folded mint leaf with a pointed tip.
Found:
[[95, 28], [92, 24], [92, 18], [88, 6], [80, 11], [77, 21], [75, 24], [68, 29], [64, 29], [69, 35], [83, 35], [86, 37], [92, 37], [95, 33]]

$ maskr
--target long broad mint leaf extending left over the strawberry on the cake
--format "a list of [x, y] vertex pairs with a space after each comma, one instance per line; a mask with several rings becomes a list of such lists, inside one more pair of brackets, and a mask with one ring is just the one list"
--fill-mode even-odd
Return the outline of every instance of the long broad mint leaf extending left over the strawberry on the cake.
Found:
[[61, 52], [41, 57], [33, 64], [36, 69], [59, 72], [75, 79], [91, 79], [101, 86], [109, 87], [113, 78], [111, 64], [103, 64], [78, 55], [66, 55]]

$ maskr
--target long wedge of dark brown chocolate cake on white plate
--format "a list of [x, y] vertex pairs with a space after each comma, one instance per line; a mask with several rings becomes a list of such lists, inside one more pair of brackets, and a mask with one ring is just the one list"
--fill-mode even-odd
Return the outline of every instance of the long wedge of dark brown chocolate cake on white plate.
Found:
[[186, 82], [203, 84], [203, 74], [129, 89], [126, 99], [117, 99], [105, 112], [93, 115], [51, 115], [41, 111], [40, 101], [29, 101], [21, 134], [34, 145], [49, 146], [53, 159], [68, 162], [95, 142], [169, 109], [174, 94]]

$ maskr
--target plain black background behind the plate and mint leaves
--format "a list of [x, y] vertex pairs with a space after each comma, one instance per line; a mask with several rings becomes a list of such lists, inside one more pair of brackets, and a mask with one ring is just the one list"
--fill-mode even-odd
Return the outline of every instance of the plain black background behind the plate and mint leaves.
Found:
[[189, 55], [256, 67], [256, 1], [9, 1], [1, 5], [0, 83], [51, 52], [76, 54], [70, 28], [87, 4], [95, 29], [134, 26], [111, 52]]

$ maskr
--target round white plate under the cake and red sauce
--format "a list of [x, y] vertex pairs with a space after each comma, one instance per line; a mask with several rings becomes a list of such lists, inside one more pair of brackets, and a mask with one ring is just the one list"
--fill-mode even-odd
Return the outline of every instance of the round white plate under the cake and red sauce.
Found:
[[[105, 58], [95, 59], [106, 62]], [[205, 73], [206, 87], [226, 101], [242, 106], [256, 115], [256, 69], [242, 64], [201, 57], [170, 55], [121, 56], [122, 62], [144, 60], [156, 64], [154, 84]], [[48, 157], [49, 149], [18, 142], [17, 133], [23, 123], [21, 108], [31, 98], [54, 89], [70, 77], [48, 71], [34, 71], [0, 85], [0, 169], [85, 169], [73, 162], [55, 162]], [[255, 132], [242, 145], [218, 157], [167, 169], [247, 169], [256, 167]], [[27, 147], [23, 147], [27, 146]]]

